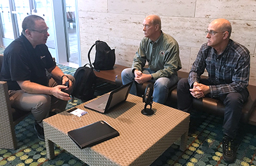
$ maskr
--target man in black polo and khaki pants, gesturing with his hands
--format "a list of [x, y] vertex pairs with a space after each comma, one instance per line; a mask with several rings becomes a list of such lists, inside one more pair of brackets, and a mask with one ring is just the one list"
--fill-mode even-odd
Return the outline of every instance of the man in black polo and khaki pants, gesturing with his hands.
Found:
[[[4, 50], [0, 75], [0, 80], [8, 83], [12, 107], [32, 112], [35, 130], [41, 140], [44, 140], [42, 120], [52, 110], [65, 110], [75, 81], [52, 59], [45, 45], [48, 29], [42, 17], [26, 17], [22, 22], [22, 34]], [[46, 71], [51, 73], [51, 79]]]

